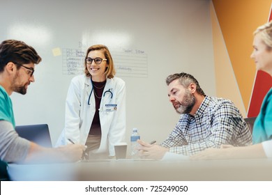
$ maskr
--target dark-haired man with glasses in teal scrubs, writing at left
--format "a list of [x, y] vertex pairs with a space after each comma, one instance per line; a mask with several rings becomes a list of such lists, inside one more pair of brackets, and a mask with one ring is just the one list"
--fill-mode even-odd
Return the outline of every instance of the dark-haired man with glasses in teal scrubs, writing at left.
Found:
[[41, 58], [33, 47], [18, 40], [4, 40], [0, 45], [0, 180], [8, 180], [7, 162], [75, 162], [85, 146], [70, 144], [61, 148], [43, 148], [15, 132], [15, 118], [10, 95], [26, 94], [35, 81], [34, 64]]

